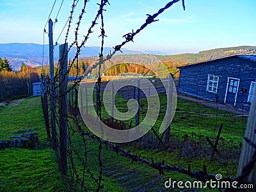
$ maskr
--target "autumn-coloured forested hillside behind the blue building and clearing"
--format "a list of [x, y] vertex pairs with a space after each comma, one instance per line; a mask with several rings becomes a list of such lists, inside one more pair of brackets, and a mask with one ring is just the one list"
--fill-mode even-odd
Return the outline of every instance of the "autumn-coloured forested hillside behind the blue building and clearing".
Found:
[[[239, 47], [226, 47], [226, 48], [218, 48], [211, 49], [207, 51], [200, 51], [198, 53], [184, 53], [184, 54], [176, 54], [176, 55], [151, 55], [151, 54], [118, 54], [113, 56], [111, 61], [107, 61], [102, 67], [102, 72], [107, 68], [116, 65], [118, 63], [138, 63], [140, 65], [145, 65], [146, 67], [154, 70], [159, 70], [160, 65], [159, 62], [163, 62], [164, 65], [168, 68], [172, 74], [175, 74], [175, 77], [179, 77], [179, 70], [177, 70], [178, 66], [186, 65], [188, 63], [198, 63], [201, 61], [212, 60], [215, 58], [221, 58], [225, 56], [230, 56], [233, 54], [252, 54], [255, 51], [256, 46], [239, 46]], [[96, 61], [97, 57], [86, 57], [80, 58], [80, 62], [86, 63], [90, 65], [93, 61]], [[123, 65], [122, 65], [123, 66]], [[125, 65], [126, 66], [126, 65]], [[123, 68], [123, 67], [121, 67]], [[116, 69], [116, 71], [113, 71]], [[119, 70], [120, 67], [112, 67], [111, 74], [120, 74], [122, 70]], [[134, 68], [129, 68], [124, 70], [124, 72], [133, 72], [136, 71]], [[140, 70], [143, 71], [143, 70]], [[106, 71], [105, 71], [106, 72]], [[95, 74], [97, 74], [95, 72]], [[109, 71], [107, 72], [109, 74]]]

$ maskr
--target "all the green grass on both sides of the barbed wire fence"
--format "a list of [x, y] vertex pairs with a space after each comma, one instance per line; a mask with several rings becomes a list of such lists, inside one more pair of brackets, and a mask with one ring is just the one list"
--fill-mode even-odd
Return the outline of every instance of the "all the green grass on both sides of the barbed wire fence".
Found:
[[[159, 97], [161, 108], [164, 108], [166, 97], [164, 95], [160, 95]], [[122, 108], [125, 108], [127, 100], [117, 95], [116, 102]], [[141, 104], [147, 106], [146, 100], [142, 99]], [[226, 140], [236, 140], [238, 138], [239, 142], [240, 140], [242, 141], [240, 136], [242, 137], [243, 135], [237, 131], [237, 127], [243, 129], [244, 122], [246, 122], [244, 117], [242, 119], [233, 116], [232, 113], [207, 108], [206, 106], [200, 106], [199, 104], [182, 99], [178, 100], [177, 108], [179, 108], [180, 112], [175, 113], [171, 125], [171, 133], [177, 135], [180, 139], [186, 133], [189, 134], [189, 137], [192, 137], [193, 132], [195, 132], [196, 136], [205, 134], [214, 138], [216, 136], [216, 130], [218, 131], [218, 126], [220, 123], [223, 123], [224, 128], [221, 133], [223, 138]], [[191, 113], [191, 111], [197, 111], [197, 113]], [[216, 113], [223, 115], [214, 116], [214, 118], [205, 115]], [[143, 114], [141, 113], [141, 118], [143, 118]], [[102, 115], [106, 115], [104, 109], [102, 109]], [[108, 116], [104, 117], [108, 118]], [[155, 125], [156, 129], [159, 126], [161, 118], [163, 118], [163, 115], [159, 117], [159, 121]], [[88, 131], [82, 121], [80, 124], [84, 131]], [[54, 157], [54, 152], [49, 148], [49, 141], [46, 139], [47, 135], [40, 97], [30, 97], [24, 100], [19, 106], [0, 108], [0, 125], [0, 140], [8, 140], [10, 136], [13, 136], [13, 132], [15, 131], [31, 128], [37, 129], [36, 131], [39, 133], [40, 139], [39, 145], [34, 150], [24, 148], [6, 148], [0, 150], [0, 191], [62, 191], [64, 186], [61, 183], [56, 158]], [[84, 158], [84, 149], [86, 148], [88, 150], [88, 155], [86, 156], [88, 168], [96, 178], [99, 177], [98, 141], [85, 137], [85, 147], [83, 138], [77, 132], [76, 126], [72, 122], [70, 125], [73, 125], [73, 129], [70, 129], [72, 132], [71, 140], [77, 152]], [[225, 129], [225, 127], [228, 127], [228, 129]], [[233, 131], [230, 132], [228, 130]], [[220, 173], [223, 177], [236, 176], [238, 161], [234, 161], [234, 159], [226, 159], [225, 161], [215, 159], [214, 161], [209, 161], [204, 156], [179, 156], [179, 150], [168, 152], [154, 148], [141, 149], [140, 146], [132, 147], [128, 144], [122, 144], [121, 146], [131, 152], [141, 154], [141, 157], [145, 157], [146, 159], [151, 159], [152, 157], [155, 162], [161, 162], [164, 159], [166, 164], [181, 168], [188, 168], [188, 164], [191, 164], [191, 170], [202, 170], [205, 164], [208, 173]], [[73, 157], [79, 177], [83, 178], [83, 166], [74, 154]], [[159, 175], [157, 170], [142, 163], [131, 164], [129, 159], [120, 155], [117, 156], [115, 152], [104, 146], [102, 146], [100, 157], [103, 163], [102, 184], [104, 185], [105, 191], [127, 191], [128, 189], [136, 189], [136, 186], [140, 188], [144, 184], [148, 184], [147, 191], [160, 191], [164, 188], [164, 182], [169, 178], [184, 182], [186, 180], [193, 180], [178, 172], [164, 172], [164, 175]], [[131, 175], [132, 177], [130, 177]], [[97, 185], [90, 179], [87, 173], [85, 173], [84, 178], [88, 191], [95, 191]], [[76, 189], [80, 189], [79, 182], [76, 184]], [[217, 190], [205, 189], [202, 191]]]

